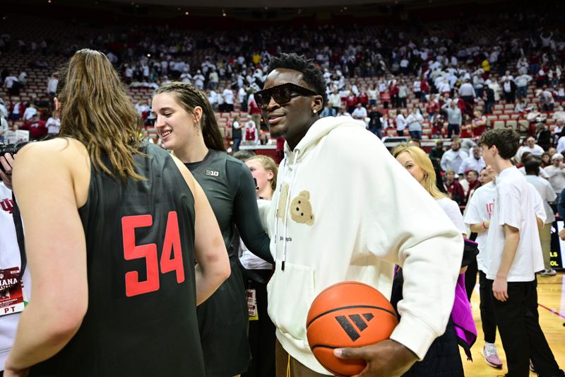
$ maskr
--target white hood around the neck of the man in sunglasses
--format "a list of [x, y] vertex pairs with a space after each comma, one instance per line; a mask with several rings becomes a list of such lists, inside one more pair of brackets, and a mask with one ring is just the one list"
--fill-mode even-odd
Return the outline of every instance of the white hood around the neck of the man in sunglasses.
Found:
[[311, 125], [310, 129], [304, 135], [302, 140], [299, 141], [298, 145], [291, 151], [288, 143], [285, 142], [285, 156], [289, 160], [294, 160], [292, 155], [297, 154], [296, 161], [300, 161], [307, 154], [312, 146], [316, 146], [318, 141], [329, 134], [333, 129], [341, 126], [347, 127], [362, 127], [365, 128], [365, 123], [360, 120], [354, 120], [351, 117], [323, 117], [316, 120], [314, 124]]

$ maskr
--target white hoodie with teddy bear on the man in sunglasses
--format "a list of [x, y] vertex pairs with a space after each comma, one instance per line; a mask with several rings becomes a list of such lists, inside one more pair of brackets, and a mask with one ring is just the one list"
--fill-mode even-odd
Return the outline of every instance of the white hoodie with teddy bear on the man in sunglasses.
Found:
[[345, 280], [390, 298], [397, 263], [404, 268], [404, 299], [391, 339], [423, 359], [451, 313], [460, 231], [363, 122], [324, 117], [294, 151], [285, 145], [285, 154], [268, 217], [275, 274], [267, 287], [283, 348], [329, 374], [308, 346], [312, 301]]

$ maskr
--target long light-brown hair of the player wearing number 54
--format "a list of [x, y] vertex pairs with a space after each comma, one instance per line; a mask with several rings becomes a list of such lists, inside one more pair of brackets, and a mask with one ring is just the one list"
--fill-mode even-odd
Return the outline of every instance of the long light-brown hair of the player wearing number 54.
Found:
[[[143, 180], [133, 153], [141, 153], [143, 123], [112, 63], [102, 52], [78, 50], [59, 71], [57, 99], [61, 103], [61, 137], [81, 141], [96, 170], [122, 181]], [[102, 161], [105, 153], [112, 169]]]

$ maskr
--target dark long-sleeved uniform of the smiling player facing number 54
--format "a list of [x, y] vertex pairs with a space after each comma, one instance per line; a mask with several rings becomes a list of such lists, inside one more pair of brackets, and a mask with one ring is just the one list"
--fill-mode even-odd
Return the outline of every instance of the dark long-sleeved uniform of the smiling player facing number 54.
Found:
[[233, 248], [237, 235], [234, 225], [249, 250], [272, 262], [270, 240], [259, 219], [251, 172], [242, 161], [210, 149], [203, 161], [185, 165], [208, 197], [230, 255], [232, 270], [218, 290], [198, 306], [206, 376], [236, 376], [247, 370], [251, 352], [247, 340], [247, 295], [237, 266], [238, 250]]

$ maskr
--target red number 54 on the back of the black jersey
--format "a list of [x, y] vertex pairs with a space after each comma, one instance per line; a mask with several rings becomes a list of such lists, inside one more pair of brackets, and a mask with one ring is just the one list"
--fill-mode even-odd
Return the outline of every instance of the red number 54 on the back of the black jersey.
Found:
[[136, 228], [144, 228], [152, 224], [153, 216], [151, 215], [125, 216], [121, 219], [121, 231], [124, 236], [124, 258], [126, 260], [144, 258], [147, 269], [147, 280], [145, 282], [139, 281], [137, 271], [126, 272], [126, 296], [128, 297], [159, 290], [159, 265], [162, 274], [176, 271], [177, 283], [184, 282], [177, 212], [169, 212], [159, 264], [157, 263], [157, 245], [155, 243], [136, 245]]

